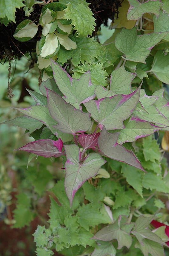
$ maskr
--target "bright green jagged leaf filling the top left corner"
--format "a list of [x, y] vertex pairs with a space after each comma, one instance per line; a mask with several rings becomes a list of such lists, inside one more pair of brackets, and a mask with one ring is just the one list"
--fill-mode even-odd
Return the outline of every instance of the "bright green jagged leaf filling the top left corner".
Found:
[[22, 3], [22, 0], [1, 0], [0, 1], [0, 18], [7, 18], [8, 22], [10, 21], [15, 22], [15, 12], [16, 8], [20, 9], [21, 7], [25, 6], [25, 4]]

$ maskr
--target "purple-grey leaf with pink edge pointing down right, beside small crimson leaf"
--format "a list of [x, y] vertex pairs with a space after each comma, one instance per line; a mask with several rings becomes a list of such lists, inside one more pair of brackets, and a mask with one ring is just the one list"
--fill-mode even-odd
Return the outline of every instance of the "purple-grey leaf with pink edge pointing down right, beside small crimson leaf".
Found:
[[99, 150], [102, 152], [102, 154], [111, 159], [130, 164], [144, 171], [141, 163], [133, 152], [127, 150], [122, 145], [117, 144], [118, 134], [119, 133], [106, 132], [106, 129], [103, 126], [102, 132], [98, 138]]

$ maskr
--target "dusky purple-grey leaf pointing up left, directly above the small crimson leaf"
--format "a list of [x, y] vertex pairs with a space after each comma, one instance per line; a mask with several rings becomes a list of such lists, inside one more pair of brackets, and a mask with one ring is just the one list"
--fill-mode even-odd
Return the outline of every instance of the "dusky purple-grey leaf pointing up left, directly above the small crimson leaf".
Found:
[[92, 124], [89, 113], [83, 113], [80, 109], [75, 109], [57, 93], [49, 89], [46, 89], [46, 91], [50, 115], [58, 123], [54, 128], [70, 134], [88, 131]]

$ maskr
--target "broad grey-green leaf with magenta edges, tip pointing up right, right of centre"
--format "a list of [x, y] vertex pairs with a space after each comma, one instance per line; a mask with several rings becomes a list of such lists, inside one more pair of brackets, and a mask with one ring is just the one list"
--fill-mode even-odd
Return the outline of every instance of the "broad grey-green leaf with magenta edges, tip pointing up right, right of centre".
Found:
[[100, 128], [104, 125], [107, 130], [123, 129], [123, 121], [132, 114], [139, 96], [140, 87], [128, 95], [118, 94], [100, 100], [90, 100], [84, 105]]

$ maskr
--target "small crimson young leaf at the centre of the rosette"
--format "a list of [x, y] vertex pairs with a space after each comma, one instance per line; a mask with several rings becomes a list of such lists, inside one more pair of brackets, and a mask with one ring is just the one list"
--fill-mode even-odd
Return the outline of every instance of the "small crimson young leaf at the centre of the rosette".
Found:
[[78, 136], [78, 142], [84, 149], [94, 148], [97, 146], [97, 140], [99, 135], [99, 132], [93, 134], [85, 134], [84, 132], [82, 132]]

